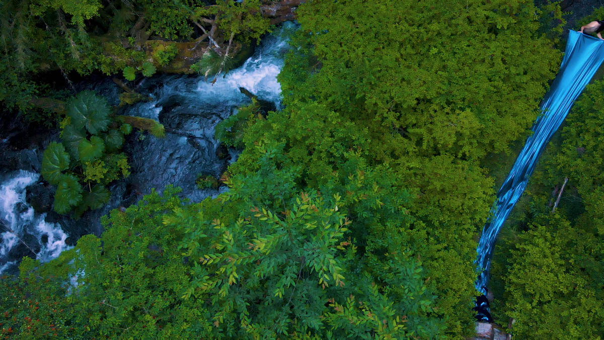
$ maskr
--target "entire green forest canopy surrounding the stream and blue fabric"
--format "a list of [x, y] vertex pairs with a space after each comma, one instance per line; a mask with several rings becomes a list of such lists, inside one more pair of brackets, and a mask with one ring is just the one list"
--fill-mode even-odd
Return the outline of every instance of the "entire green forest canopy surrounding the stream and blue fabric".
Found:
[[[226, 65], [243, 45], [292, 19], [275, 10], [292, 4], [299, 2], [5, 1], [0, 100], [7, 114], [40, 115], [28, 112], [39, 109], [36, 98], [52, 97], [36, 80], [47, 71], [66, 79], [96, 71], [126, 80], [153, 72], [215, 77], [226, 69], [204, 65], [209, 54]], [[500, 166], [487, 155], [509, 155], [539, 113], [562, 59], [560, 8], [528, 0], [315, 0], [295, 13], [300, 28], [278, 76], [284, 108], [263, 115], [254, 101], [217, 127], [223, 143], [243, 149], [221, 179], [229, 190], [188, 202], [165, 188], [112, 211], [102, 236], [82, 237], [56, 260], [24, 258], [19, 277], [2, 280], [2, 336], [471, 335], [477, 239], [495, 199], [490, 174]], [[579, 109], [599, 106], [584, 100]], [[505, 284], [495, 283], [507, 299], [502, 313], [518, 320], [525, 338], [532, 318], [551, 325], [558, 309], [551, 292], [531, 300], [535, 289], [553, 287], [527, 287], [539, 281], [527, 272], [542, 252], [518, 249], [552, 252], [543, 267], [566, 275], [552, 285], [583, 275], [580, 285], [560, 288], [565, 306], [582, 293], [590, 297], [581, 300], [586, 309], [603, 301], [595, 288], [602, 195], [590, 191], [599, 188], [602, 164], [572, 152], [577, 140], [597, 150], [602, 124], [597, 114], [589, 119], [593, 129], [564, 130], [564, 159], [552, 158], [540, 179], [548, 193], [555, 176], [577, 172], [585, 211], [531, 220], [535, 228], [506, 241], [507, 255], [494, 265], [509, 272]], [[590, 255], [575, 254], [581, 239], [567, 240], [569, 223], [583, 223]], [[532, 244], [535, 238], [542, 242]], [[573, 272], [569, 258], [589, 264]], [[585, 320], [569, 317], [563, 334], [603, 336], [596, 326], [584, 333]], [[565, 338], [552, 334], [542, 327], [532, 338]]]

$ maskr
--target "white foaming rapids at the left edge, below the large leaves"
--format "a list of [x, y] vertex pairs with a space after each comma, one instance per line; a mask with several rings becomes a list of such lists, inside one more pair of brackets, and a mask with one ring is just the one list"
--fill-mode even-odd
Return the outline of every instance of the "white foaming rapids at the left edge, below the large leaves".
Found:
[[46, 214], [34, 213], [25, 202], [25, 188], [39, 176], [19, 170], [0, 184], [0, 273], [32, 252], [38, 260], [45, 262], [68, 248], [65, 244], [67, 234], [60, 226], [46, 222]]

